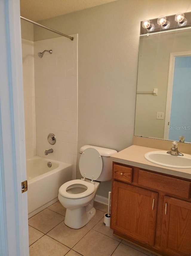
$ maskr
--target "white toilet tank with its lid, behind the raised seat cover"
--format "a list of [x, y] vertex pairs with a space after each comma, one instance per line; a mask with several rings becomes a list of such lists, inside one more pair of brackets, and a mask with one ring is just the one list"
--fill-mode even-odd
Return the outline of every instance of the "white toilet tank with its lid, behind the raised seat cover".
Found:
[[108, 181], [112, 179], [112, 160], [110, 156], [117, 153], [114, 149], [104, 148], [104, 147], [97, 147], [92, 145], [84, 145], [80, 148], [79, 153], [82, 153], [87, 148], [94, 148], [96, 149], [102, 158], [103, 168], [101, 171], [100, 176], [97, 178], [97, 181]]

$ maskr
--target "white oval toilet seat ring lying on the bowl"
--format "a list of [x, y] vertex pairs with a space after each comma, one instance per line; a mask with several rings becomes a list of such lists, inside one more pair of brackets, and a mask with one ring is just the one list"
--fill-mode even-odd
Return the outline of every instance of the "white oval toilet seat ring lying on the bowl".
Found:
[[[67, 192], [67, 188], [69, 186], [78, 185], [78, 184], [87, 187], [87, 189], [84, 192], [78, 193], [78, 194], [70, 194]], [[93, 183], [90, 183], [84, 180], [70, 180], [64, 183], [59, 188], [58, 193], [63, 197], [75, 199], [75, 198], [83, 198], [85, 196], [91, 195], [94, 191], [95, 191], [95, 185]]]

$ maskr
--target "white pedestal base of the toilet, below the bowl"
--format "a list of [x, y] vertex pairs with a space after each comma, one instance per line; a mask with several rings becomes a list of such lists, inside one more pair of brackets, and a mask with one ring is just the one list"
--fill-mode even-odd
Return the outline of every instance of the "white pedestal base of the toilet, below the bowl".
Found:
[[74, 210], [67, 209], [64, 224], [70, 228], [78, 229], [85, 226], [96, 214], [94, 207], [90, 204]]

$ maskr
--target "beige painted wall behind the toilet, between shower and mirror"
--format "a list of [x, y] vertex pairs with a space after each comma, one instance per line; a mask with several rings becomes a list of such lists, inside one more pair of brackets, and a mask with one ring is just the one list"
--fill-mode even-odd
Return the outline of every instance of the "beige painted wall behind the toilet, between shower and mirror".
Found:
[[[78, 150], [132, 145], [140, 21], [180, 11], [191, 11], [190, 0], [118, 0], [41, 21], [78, 33]], [[51, 37], [56, 34], [34, 26], [34, 40]], [[102, 183], [97, 194], [107, 197], [110, 184]]]

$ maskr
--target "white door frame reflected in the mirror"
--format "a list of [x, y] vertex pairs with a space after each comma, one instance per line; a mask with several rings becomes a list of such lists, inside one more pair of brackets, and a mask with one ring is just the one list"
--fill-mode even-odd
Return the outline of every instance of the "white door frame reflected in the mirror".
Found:
[[169, 139], [169, 124], [170, 124], [170, 112], [171, 112], [171, 103], [172, 103], [172, 87], [173, 87], [173, 78], [174, 78], [175, 57], [190, 56], [190, 55], [191, 55], [191, 51], [170, 52], [166, 112], [165, 112], [165, 121], [164, 121], [164, 139], [166, 140]]

